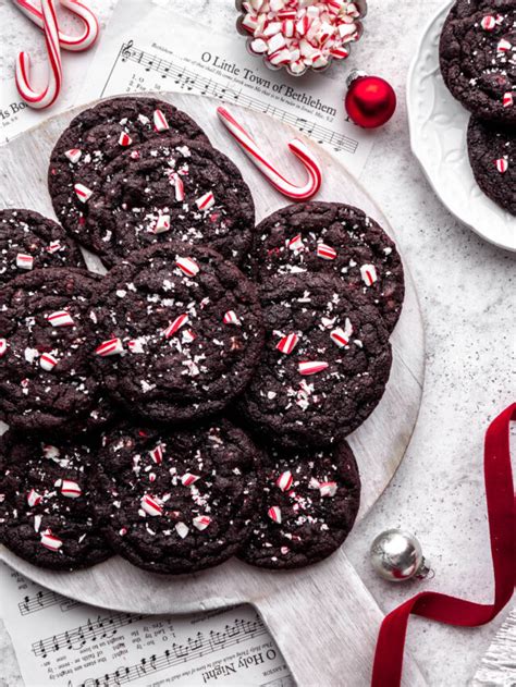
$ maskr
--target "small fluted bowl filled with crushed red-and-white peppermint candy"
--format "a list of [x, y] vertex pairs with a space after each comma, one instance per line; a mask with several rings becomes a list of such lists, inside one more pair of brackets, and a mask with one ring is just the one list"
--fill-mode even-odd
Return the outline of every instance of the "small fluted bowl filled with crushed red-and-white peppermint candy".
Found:
[[364, 33], [366, 0], [236, 0], [247, 50], [293, 76], [345, 60]]

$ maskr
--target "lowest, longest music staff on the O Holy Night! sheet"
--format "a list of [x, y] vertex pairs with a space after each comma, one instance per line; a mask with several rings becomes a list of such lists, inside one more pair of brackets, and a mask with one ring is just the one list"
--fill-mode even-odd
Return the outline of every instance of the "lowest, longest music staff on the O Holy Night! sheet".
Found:
[[187, 642], [183, 645], [174, 642], [172, 648], [167, 649], [163, 653], [142, 659], [139, 663], [119, 668], [114, 673], [96, 678], [91, 677], [81, 683], [79, 687], [111, 687], [112, 685], [131, 683], [147, 677], [150, 673], [163, 671], [171, 665], [180, 665], [226, 647], [236, 646], [244, 637], [251, 636], [254, 638], [266, 634], [267, 629], [258, 615], [256, 621], [236, 619], [234, 625], [226, 625], [224, 631], [210, 630], [207, 636], [199, 631], [196, 639], [188, 638]]

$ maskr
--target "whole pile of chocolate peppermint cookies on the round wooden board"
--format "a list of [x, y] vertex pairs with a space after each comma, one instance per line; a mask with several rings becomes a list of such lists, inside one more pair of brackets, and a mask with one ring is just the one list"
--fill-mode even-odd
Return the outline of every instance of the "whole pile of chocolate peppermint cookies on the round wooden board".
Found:
[[393, 242], [336, 203], [255, 226], [234, 163], [151, 98], [75, 118], [49, 189], [62, 226], [0, 211], [1, 542], [53, 569], [330, 555], [390, 375]]

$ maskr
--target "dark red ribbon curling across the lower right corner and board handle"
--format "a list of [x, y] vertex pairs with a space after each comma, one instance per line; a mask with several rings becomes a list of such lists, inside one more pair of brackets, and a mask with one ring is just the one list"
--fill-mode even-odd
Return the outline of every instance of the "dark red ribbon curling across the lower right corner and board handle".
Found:
[[397, 687], [410, 613], [438, 623], [475, 627], [492, 621], [511, 600], [516, 584], [516, 502], [511, 468], [511, 420], [516, 403], [501, 413], [486, 433], [483, 473], [494, 571], [494, 603], [484, 605], [423, 591], [385, 616], [380, 628], [371, 687]]

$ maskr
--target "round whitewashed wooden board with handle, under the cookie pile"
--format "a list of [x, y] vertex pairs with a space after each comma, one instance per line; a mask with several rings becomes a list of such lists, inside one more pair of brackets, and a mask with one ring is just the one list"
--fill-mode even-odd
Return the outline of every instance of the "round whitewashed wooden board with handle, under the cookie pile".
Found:
[[[140, 94], [145, 95], [145, 94]], [[218, 101], [183, 94], [160, 93], [195, 118], [211, 143], [239, 168], [253, 191], [257, 220], [288, 204], [236, 147], [218, 121]], [[84, 108], [81, 108], [84, 109]], [[50, 151], [79, 109], [59, 114], [0, 148], [0, 207], [26, 207], [53, 217], [46, 176]], [[286, 144], [298, 132], [271, 118], [231, 107], [263, 150], [293, 180], [303, 179]], [[318, 144], [304, 138], [318, 157], [323, 185], [318, 200], [339, 200], [360, 207], [395, 238], [388, 219], [356, 179]], [[86, 256], [94, 271], [98, 258]], [[349, 437], [363, 481], [357, 522], [384, 491], [403, 459], [421, 403], [425, 377], [423, 323], [416, 289], [405, 265], [406, 296], [391, 338], [393, 366], [385, 393], [372, 415]], [[1, 428], [0, 428], [1, 429]], [[262, 615], [299, 687], [367, 685], [378, 629], [383, 614], [346, 556], [346, 545], [317, 565], [271, 572], [237, 560], [195, 575], [153, 575], [119, 556], [74, 573], [35, 567], [0, 547], [0, 561], [44, 587], [90, 605], [133, 613], [191, 613], [250, 603]], [[417, 665], [405, 660], [405, 685], [425, 680]]]

